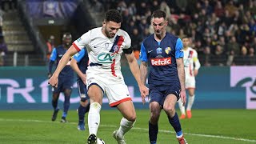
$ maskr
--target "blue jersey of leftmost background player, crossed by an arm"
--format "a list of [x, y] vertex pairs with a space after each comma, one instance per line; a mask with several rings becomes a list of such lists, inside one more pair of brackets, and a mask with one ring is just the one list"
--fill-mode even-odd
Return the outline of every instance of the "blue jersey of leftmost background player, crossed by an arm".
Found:
[[[66, 49], [60, 45], [52, 51], [50, 54], [50, 61], [57, 62], [56, 65], [58, 65], [58, 62], [61, 60], [62, 56], [66, 53]], [[51, 70], [50, 70], [51, 71]], [[70, 62], [66, 64], [66, 66], [63, 68], [61, 73], [59, 74], [59, 78], [74, 78], [74, 70], [70, 66]]]

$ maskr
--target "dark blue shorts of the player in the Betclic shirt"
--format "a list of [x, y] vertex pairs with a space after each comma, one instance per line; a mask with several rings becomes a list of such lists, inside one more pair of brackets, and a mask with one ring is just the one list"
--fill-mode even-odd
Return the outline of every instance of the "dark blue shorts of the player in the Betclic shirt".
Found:
[[152, 87], [150, 89], [150, 102], [158, 102], [161, 106], [165, 102], [166, 96], [174, 94], [177, 99], [180, 98], [180, 87], [179, 86], [161, 86]]

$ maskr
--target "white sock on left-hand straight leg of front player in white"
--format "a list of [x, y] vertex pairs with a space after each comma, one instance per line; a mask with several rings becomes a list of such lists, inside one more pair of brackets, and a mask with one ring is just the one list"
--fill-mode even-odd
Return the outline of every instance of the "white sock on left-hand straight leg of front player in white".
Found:
[[88, 113], [88, 127], [89, 134], [97, 135], [98, 126], [101, 120], [99, 112], [102, 106], [98, 102], [93, 102], [90, 104], [90, 110]]

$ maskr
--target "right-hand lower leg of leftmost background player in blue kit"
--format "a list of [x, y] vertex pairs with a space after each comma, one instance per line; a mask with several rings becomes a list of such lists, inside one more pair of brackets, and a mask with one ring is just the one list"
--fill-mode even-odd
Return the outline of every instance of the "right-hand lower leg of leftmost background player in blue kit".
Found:
[[63, 114], [62, 114], [62, 120], [61, 122], [67, 122], [66, 115], [70, 109], [70, 96], [71, 96], [72, 89], [64, 89], [64, 103], [63, 103]]

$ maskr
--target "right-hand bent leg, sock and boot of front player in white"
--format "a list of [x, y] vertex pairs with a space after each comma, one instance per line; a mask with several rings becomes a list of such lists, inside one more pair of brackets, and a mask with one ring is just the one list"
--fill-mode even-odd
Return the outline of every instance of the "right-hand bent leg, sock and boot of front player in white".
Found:
[[122, 102], [117, 107], [122, 113], [123, 118], [121, 119], [119, 129], [113, 132], [113, 136], [118, 141], [118, 144], [125, 144], [124, 135], [134, 126], [136, 112], [132, 101]]

